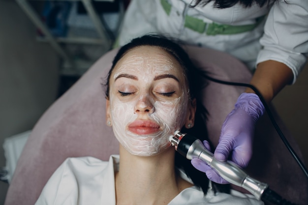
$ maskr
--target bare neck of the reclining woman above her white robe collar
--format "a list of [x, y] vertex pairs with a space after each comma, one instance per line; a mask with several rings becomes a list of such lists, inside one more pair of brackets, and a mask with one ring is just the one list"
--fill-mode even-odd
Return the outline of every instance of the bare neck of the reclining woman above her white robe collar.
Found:
[[131, 155], [120, 147], [115, 183], [117, 205], [167, 205], [183, 189], [192, 186], [176, 175], [172, 147], [150, 157]]

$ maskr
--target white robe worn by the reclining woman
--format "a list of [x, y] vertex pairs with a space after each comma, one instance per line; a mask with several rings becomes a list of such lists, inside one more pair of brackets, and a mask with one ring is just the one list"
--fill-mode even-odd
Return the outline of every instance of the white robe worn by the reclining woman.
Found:
[[[115, 205], [114, 173], [118, 169], [119, 155], [110, 156], [109, 162], [94, 157], [68, 158], [48, 180], [35, 205]], [[250, 194], [234, 190], [231, 194], [215, 194], [210, 186], [204, 196], [193, 186], [169, 205], [263, 205]]]

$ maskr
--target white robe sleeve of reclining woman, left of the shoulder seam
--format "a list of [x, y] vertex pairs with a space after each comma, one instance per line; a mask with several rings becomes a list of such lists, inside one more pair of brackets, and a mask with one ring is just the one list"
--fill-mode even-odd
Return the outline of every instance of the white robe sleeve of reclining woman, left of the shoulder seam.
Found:
[[66, 159], [49, 178], [35, 205], [76, 205], [78, 185]]

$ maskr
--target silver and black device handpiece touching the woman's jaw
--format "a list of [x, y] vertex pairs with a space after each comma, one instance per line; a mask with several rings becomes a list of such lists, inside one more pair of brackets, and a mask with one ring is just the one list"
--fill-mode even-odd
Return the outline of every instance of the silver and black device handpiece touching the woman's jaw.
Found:
[[258, 200], [261, 199], [262, 194], [268, 188], [266, 183], [262, 183], [248, 176], [237, 164], [231, 161], [222, 162], [217, 160], [214, 154], [208, 151], [196, 137], [176, 131], [170, 137], [170, 142], [187, 159], [201, 159], [212, 167], [222, 178], [246, 189]]

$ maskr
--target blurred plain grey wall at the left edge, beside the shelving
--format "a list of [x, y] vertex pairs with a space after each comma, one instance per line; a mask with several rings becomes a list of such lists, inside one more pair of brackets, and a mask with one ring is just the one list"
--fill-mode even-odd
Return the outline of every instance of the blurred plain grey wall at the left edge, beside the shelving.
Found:
[[[30, 130], [57, 96], [59, 57], [35, 31], [14, 0], [0, 0], [0, 167], [4, 139]], [[0, 205], [7, 187], [0, 181]]]

